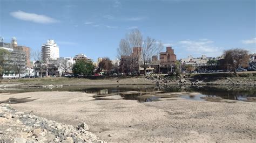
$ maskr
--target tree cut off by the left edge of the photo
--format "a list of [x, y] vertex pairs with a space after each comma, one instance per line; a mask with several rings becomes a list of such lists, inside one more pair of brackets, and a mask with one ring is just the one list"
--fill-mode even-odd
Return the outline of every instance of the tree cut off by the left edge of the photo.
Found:
[[3, 78], [3, 74], [8, 67], [8, 55], [10, 53], [6, 49], [0, 49], [0, 78]]

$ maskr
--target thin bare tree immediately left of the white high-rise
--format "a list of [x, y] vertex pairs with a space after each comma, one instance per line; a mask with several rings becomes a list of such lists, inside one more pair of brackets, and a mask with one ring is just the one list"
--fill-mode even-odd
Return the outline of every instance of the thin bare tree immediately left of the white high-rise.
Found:
[[40, 76], [42, 77], [43, 70], [45, 68], [44, 61], [42, 59], [42, 53], [41, 51], [33, 51], [31, 52], [31, 56], [33, 57], [33, 60], [35, 61], [33, 69], [36, 76], [36, 71], [38, 70], [40, 72]]

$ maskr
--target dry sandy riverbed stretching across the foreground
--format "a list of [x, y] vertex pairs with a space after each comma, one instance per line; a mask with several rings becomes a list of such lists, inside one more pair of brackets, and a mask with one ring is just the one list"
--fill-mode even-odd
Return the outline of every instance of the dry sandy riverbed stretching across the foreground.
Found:
[[256, 142], [256, 103], [217, 103], [164, 98], [163, 101], [100, 100], [82, 92], [0, 94], [39, 98], [11, 104], [64, 124], [85, 121], [100, 139], [114, 142]]

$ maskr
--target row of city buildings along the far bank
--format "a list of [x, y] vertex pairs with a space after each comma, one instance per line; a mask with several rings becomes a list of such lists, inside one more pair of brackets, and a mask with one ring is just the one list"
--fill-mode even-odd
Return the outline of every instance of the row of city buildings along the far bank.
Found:
[[[74, 57], [62, 58], [59, 56], [59, 46], [57, 43], [50, 39], [41, 46], [41, 55], [34, 57], [34, 61], [31, 61], [30, 48], [27, 46], [18, 45], [17, 39], [14, 37], [11, 42], [4, 42], [3, 38], [0, 38], [0, 49], [9, 51], [9, 66], [16, 68], [10, 68], [8, 72], [3, 74], [4, 77], [18, 76], [17, 72], [24, 75], [63, 75], [66, 73], [72, 73], [72, 65], [80, 59], [91, 60], [87, 58], [85, 54], [77, 54]], [[113, 72], [125, 73], [125, 74], [142, 74], [144, 72], [143, 60], [142, 60], [142, 48], [133, 47], [130, 55], [122, 55], [120, 59], [113, 60]], [[36, 55], [33, 55], [36, 56]], [[158, 59], [159, 57], [159, 59]], [[256, 69], [256, 55], [252, 55], [252, 62], [249, 68]], [[253, 59], [254, 58], [254, 59]], [[193, 58], [191, 55], [187, 58], [180, 59], [181, 65], [190, 65], [194, 68], [200, 66], [207, 66], [209, 60], [221, 60], [223, 57], [209, 58], [206, 55], [202, 55], [200, 58]], [[97, 62], [93, 62], [96, 67], [103, 58], [98, 58]], [[150, 59], [147, 73], [168, 73], [173, 71], [176, 67], [177, 56], [174, 53], [172, 47], [166, 47], [165, 52], [160, 52], [159, 55], [153, 55]], [[144, 73], [143, 73], [144, 74]]]

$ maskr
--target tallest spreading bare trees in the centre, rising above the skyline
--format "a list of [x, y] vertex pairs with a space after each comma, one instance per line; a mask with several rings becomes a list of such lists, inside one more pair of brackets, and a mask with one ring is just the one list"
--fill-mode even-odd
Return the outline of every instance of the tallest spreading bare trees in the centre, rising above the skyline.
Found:
[[122, 56], [126, 59], [130, 57], [126, 65], [131, 65], [133, 71], [136, 68], [139, 73], [139, 67], [142, 66], [146, 74], [146, 68], [152, 64], [152, 56], [158, 55], [162, 48], [161, 42], [150, 37], [143, 40], [139, 30], [132, 30], [126, 35], [126, 39], [121, 39], [117, 54], [121, 61]]

